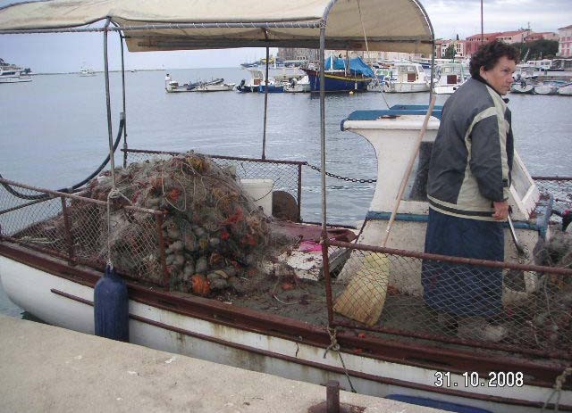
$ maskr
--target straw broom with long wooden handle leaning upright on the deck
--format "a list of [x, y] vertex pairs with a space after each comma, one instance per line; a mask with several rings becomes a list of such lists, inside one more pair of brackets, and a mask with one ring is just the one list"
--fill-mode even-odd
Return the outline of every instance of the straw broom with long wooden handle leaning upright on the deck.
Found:
[[[423, 127], [419, 131], [415, 148], [413, 153], [411, 153], [408, 168], [401, 179], [400, 191], [397, 195], [393, 211], [391, 211], [390, 220], [385, 230], [385, 237], [382, 244], [383, 247], [385, 247], [387, 240], [389, 239], [393, 221], [395, 221], [397, 210], [400, 207], [401, 197], [405, 192], [405, 187], [407, 186], [411, 169], [413, 169], [413, 163], [416, 160], [417, 152], [419, 152], [419, 146], [421, 145], [423, 136], [425, 136], [427, 124], [431, 114], [433, 113], [434, 105], [435, 96], [433, 95], [429, 108], [427, 109], [427, 113], [425, 114]], [[361, 265], [361, 268], [359, 268], [357, 273], [351, 277], [348, 286], [333, 304], [333, 310], [342, 316], [352, 318], [366, 326], [374, 326], [382, 315], [383, 304], [385, 304], [385, 296], [387, 294], [387, 285], [389, 284], [390, 271], [391, 261], [386, 254], [381, 252], [372, 252], [367, 255]]]

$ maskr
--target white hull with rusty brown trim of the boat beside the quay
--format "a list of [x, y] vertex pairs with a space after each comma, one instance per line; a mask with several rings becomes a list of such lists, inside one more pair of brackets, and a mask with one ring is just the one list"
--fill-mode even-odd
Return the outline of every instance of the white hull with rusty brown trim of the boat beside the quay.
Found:
[[[63, 277], [57, 274], [62, 272], [61, 266], [52, 262], [46, 267], [39, 260], [32, 267], [3, 254], [0, 277], [5, 292], [21, 308], [52, 325], [93, 334], [96, 280], [81, 277], [80, 269], [73, 276], [73, 268], [68, 267], [71, 271]], [[454, 388], [444, 389], [435, 385], [436, 371], [432, 368], [391, 358], [367, 357], [361, 351], [326, 351], [326, 342], [302, 339], [302, 335], [307, 338], [320, 334], [308, 329], [303, 332], [304, 327], [294, 326], [295, 323], [290, 323], [290, 331], [299, 328], [299, 337], [295, 333], [288, 335], [288, 328], [270, 333], [259, 326], [240, 327], [240, 315], [248, 315], [249, 310], [232, 310], [231, 305], [218, 302], [208, 308], [202, 302], [209, 300], [204, 299], [172, 300], [167, 306], [160, 304], [164, 297], [152, 298], [152, 290], [133, 290], [130, 285], [130, 343], [156, 350], [316, 384], [338, 380], [344, 388], [349, 388], [347, 372], [351, 384], [360, 393], [425, 397], [492, 412], [516, 411], [516, 408], [519, 412], [537, 411], [539, 403], [546, 401], [552, 392], [549, 387], [534, 385], [470, 388], [464, 386], [463, 376], [452, 373], [450, 380], [455, 383], [451, 384]], [[146, 294], [151, 297], [149, 300], [145, 299]], [[227, 309], [226, 317], [223, 311], [215, 314], [216, 306]], [[201, 307], [206, 311], [201, 312]], [[321, 335], [327, 337], [325, 332]], [[560, 409], [572, 405], [571, 399], [570, 392], [562, 392]]]

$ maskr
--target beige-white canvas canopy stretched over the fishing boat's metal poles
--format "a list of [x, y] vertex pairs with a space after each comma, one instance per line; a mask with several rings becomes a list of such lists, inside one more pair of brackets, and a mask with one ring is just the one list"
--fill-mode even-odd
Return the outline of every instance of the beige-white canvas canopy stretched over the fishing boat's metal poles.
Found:
[[324, 26], [326, 49], [433, 53], [417, 0], [48, 0], [1, 8], [0, 33], [86, 30], [108, 18], [131, 52], [319, 48]]

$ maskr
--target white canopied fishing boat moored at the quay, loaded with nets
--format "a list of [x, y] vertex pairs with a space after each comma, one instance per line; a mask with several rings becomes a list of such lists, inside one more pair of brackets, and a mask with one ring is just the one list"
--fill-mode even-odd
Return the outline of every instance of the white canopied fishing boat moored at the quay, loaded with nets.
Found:
[[[153, 20], [142, 21], [142, 15]], [[416, 0], [300, 1], [286, 8], [283, 2], [269, 1], [257, 4], [256, 18], [244, 13], [242, 4], [223, 0], [196, 2], [192, 9], [182, 0], [132, 7], [114, 1], [97, 5], [86, 1], [85, 7], [81, 0], [27, 2], [0, 10], [0, 33], [81, 32], [81, 24], [101, 16], [107, 16], [103, 27], [91, 24], [85, 31], [103, 33], [106, 79], [107, 37], [114, 33], [121, 34], [130, 52], [302, 46], [319, 49], [321, 62], [325, 47], [425, 54], [434, 48], [429, 17]], [[338, 27], [341, 21], [344, 24]], [[325, 75], [324, 66], [319, 71]], [[323, 208], [322, 222], [315, 225], [300, 220], [301, 171], [306, 162], [267, 159], [264, 143], [259, 159], [133, 148], [126, 142], [126, 116], [120, 116], [113, 136], [109, 82], [105, 82], [109, 160], [100, 169], [77, 186], [61, 190], [0, 178], [0, 277], [5, 292], [22, 309], [50, 324], [93, 334], [100, 326], [94, 313], [112, 310], [97, 300], [101, 297], [97, 283], [109, 270], [127, 285], [122, 300], [129, 300], [125, 324], [131, 343], [312, 383], [337, 380], [356, 392], [441, 409], [572, 410], [572, 334], [566, 295], [572, 270], [537, 265], [520, 255], [526, 248], [517, 248], [529, 248], [535, 239], [563, 227], [563, 221], [549, 224], [549, 220], [551, 209], [569, 209], [571, 179], [534, 180], [516, 160], [510, 189], [514, 234], [507, 227], [509, 241], [509, 234], [514, 239], [506, 243], [507, 262], [424, 254], [423, 166], [441, 108], [430, 103], [352, 112], [342, 128], [353, 132], [349, 139], [364, 136], [372, 143], [378, 157], [376, 191], [361, 231], [332, 226], [326, 208], [324, 86], [321, 82], [322, 152], [317, 168]], [[112, 153], [122, 139], [129, 149], [123, 150], [122, 168], [115, 168]], [[109, 169], [102, 173], [107, 162]], [[204, 191], [210, 200], [204, 203], [209, 205], [228, 206], [231, 200], [250, 205], [272, 192], [270, 213], [288, 220], [274, 220], [265, 212], [267, 205], [266, 209], [258, 205], [230, 210], [220, 226], [207, 227], [206, 215], [216, 214], [190, 214], [185, 202], [193, 191], [182, 191], [174, 176], [169, 181], [167, 175], [145, 175], [153, 165], [161, 173], [171, 170], [200, 178], [195, 190], [205, 188], [208, 179], [224, 179], [232, 191], [226, 186]], [[409, 165], [413, 169], [408, 170]], [[162, 169], [167, 166], [172, 169]], [[145, 184], [135, 186], [139, 192], [130, 196], [122, 194], [122, 183], [136, 172], [143, 174], [138, 175], [139, 184]], [[208, 175], [214, 172], [217, 175]], [[257, 189], [254, 195], [242, 194], [235, 177], [244, 188], [255, 179], [250, 182]], [[108, 189], [102, 191], [104, 187]], [[551, 187], [559, 188], [557, 196], [547, 189]], [[408, 188], [403, 200], [401, 188]], [[274, 207], [275, 200], [282, 202]], [[390, 232], [384, 224], [391, 219], [395, 224]], [[298, 244], [265, 261], [266, 266], [253, 268], [252, 256], [243, 253], [254, 251], [265, 239], [257, 235], [266, 225]], [[245, 226], [248, 232], [232, 246], [234, 229]], [[380, 242], [385, 227], [387, 244]], [[225, 261], [221, 245], [240, 257]], [[424, 260], [504, 268], [503, 315], [511, 327], [509, 338], [488, 343], [448, 334], [419, 295]], [[237, 290], [232, 293], [229, 285]], [[349, 293], [360, 285], [367, 299], [352, 300]], [[237, 293], [239, 287], [242, 294]], [[281, 291], [288, 292], [288, 298]], [[370, 304], [375, 304], [373, 312], [365, 308]], [[360, 316], [364, 310], [366, 319]], [[121, 324], [120, 318], [112, 321], [112, 327]]]

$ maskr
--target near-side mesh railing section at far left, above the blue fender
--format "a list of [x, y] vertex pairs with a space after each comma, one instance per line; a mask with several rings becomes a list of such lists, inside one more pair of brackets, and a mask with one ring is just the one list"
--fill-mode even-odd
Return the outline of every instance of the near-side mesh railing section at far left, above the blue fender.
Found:
[[[105, 177], [106, 178], [106, 177]], [[130, 205], [122, 196], [66, 194], [0, 178], [0, 242], [24, 245], [71, 266], [102, 270], [168, 287], [164, 211]], [[111, 237], [108, 236], [111, 229]]]

